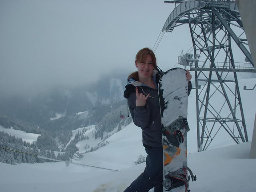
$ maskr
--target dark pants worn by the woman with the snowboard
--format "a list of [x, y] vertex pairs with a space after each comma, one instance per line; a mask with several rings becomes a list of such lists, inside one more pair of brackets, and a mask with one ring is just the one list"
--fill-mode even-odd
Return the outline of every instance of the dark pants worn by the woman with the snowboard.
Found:
[[163, 192], [163, 150], [161, 147], [145, 147], [146, 168], [124, 192]]

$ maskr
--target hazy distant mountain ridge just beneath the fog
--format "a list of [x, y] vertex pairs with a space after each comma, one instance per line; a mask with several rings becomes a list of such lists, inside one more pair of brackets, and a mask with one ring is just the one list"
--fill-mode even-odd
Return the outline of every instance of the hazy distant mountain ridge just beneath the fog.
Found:
[[[52, 123], [56, 127], [54, 121], [58, 119], [73, 117], [80, 112], [88, 111], [90, 122], [93, 124], [100, 120], [94, 113], [100, 111], [106, 113], [108, 110], [105, 108], [117, 102], [124, 102], [126, 77], [127, 75], [121, 73], [114, 77], [112, 74], [105, 75], [99, 81], [89, 85], [74, 88], [55, 86], [47, 92], [32, 95], [29, 98], [2, 95], [0, 114], [11, 119], [27, 121], [40, 128], [43, 126], [44, 129], [51, 129]], [[88, 118], [84, 118], [87, 120], [83, 123], [89, 125]]]

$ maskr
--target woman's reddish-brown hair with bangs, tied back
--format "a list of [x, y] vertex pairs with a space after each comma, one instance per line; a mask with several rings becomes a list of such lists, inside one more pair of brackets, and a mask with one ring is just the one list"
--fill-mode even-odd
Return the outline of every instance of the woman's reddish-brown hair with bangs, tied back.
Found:
[[[138, 51], [138, 53], [136, 54], [136, 57], [135, 57], [135, 61], [136, 62], [141, 62], [141, 61], [146, 59], [147, 55], [151, 56], [153, 66], [154, 66], [155, 69], [157, 69], [156, 56], [155, 56], [154, 52], [151, 49], [147, 48], [147, 47], [145, 47], [145, 48], [143, 48], [143, 49]], [[135, 71], [135, 72], [131, 73], [128, 76], [128, 79], [130, 79], [131, 77], [135, 81], [139, 81], [139, 73], [138, 73], [138, 71]]]

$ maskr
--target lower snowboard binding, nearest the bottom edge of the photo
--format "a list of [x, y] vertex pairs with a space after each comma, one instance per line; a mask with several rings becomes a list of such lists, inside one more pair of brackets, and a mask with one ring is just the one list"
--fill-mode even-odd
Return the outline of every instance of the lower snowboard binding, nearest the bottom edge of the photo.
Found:
[[196, 175], [193, 175], [191, 169], [189, 169], [187, 166], [183, 166], [177, 171], [169, 172], [167, 175], [165, 175], [166, 180], [163, 183], [165, 191], [170, 191], [174, 188], [185, 185], [185, 192], [189, 192], [190, 190], [188, 189], [188, 182], [190, 180], [190, 176], [187, 176], [187, 171], [189, 171], [192, 181], [195, 181]]

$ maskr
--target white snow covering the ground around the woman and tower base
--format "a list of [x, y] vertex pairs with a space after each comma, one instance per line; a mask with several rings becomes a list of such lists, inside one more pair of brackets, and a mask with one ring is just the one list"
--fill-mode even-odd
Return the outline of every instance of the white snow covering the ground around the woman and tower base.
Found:
[[[240, 80], [239, 84], [240, 87], [253, 87], [255, 79]], [[188, 166], [197, 175], [197, 181], [189, 182], [191, 192], [255, 191], [256, 159], [250, 159], [249, 156], [256, 109], [256, 103], [251, 102], [251, 98], [255, 98], [256, 90], [240, 89], [240, 92], [250, 141], [235, 144], [232, 139], [220, 134], [212, 146], [202, 152], [197, 152], [194, 90], [189, 96]], [[73, 131], [73, 135], [77, 131], [81, 129]], [[25, 139], [23, 134], [22, 138]], [[141, 134], [141, 129], [131, 123], [110, 136], [107, 139], [108, 145], [85, 153], [82, 159], [73, 160], [75, 163], [120, 171], [77, 164], [66, 166], [63, 162], [17, 165], [0, 163], [1, 191], [122, 192], [145, 168], [145, 163], [134, 165], [140, 154], [146, 155]], [[82, 142], [86, 141], [79, 144], [84, 145]], [[79, 150], [82, 152], [83, 147]]]

